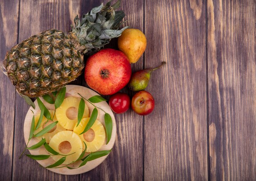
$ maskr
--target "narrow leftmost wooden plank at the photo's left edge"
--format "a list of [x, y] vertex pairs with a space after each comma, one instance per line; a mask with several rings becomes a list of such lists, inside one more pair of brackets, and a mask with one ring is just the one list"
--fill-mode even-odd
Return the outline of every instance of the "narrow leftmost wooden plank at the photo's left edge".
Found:
[[[0, 2], [0, 66], [6, 52], [17, 43], [19, 1]], [[15, 88], [0, 72], [0, 178], [11, 180]]]

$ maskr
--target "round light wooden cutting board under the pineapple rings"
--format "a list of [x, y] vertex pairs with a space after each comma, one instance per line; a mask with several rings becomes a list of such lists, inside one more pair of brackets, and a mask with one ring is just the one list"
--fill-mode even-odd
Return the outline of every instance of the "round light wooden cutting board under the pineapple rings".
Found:
[[[78, 85], [67, 85], [66, 86], [66, 96], [65, 97], [81, 98], [79, 96], [79, 94], [77, 94], [77, 93], [81, 94], [83, 97], [85, 97], [87, 99], [92, 97], [92, 96], [99, 95], [96, 92], [94, 92], [93, 90], [88, 89], [86, 87], [82, 87], [82, 86], [78, 86]], [[51, 105], [51, 104], [47, 103], [43, 98], [40, 98], [40, 100], [44, 103], [45, 107], [47, 107], [48, 109], [54, 110], [54, 105]], [[33, 118], [33, 113], [32, 113], [31, 110], [33, 110], [35, 115], [40, 112], [37, 101], [35, 101], [34, 103], [36, 105], [36, 109], [33, 109], [32, 107], [30, 107], [28, 112], [27, 112], [25, 121], [24, 121], [24, 139], [25, 139], [26, 144], [27, 144], [28, 139], [29, 139], [30, 125], [31, 125], [31, 121], [32, 121], [32, 118]], [[89, 112], [90, 112], [90, 115], [91, 115], [92, 110], [94, 109], [94, 106], [92, 106], [87, 101], [85, 101], [85, 103], [88, 106]], [[97, 107], [100, 107], [105, 112], [110, 114], [110, 116], [112, 118], [113, 128], [112, 128], [111, 139], [110, 139], [108, 145], [106, 145], [106, 139], [105, 139], [105, 142], [104, 142], [103, 146], [98, 151], [110, 150], [113, 147], [114, 143], [115, 143], [116, 132], [117, 132], [115, 116], [113, 115], [113, 112], [110, 109], [110, 107], [108, 106], [108, 103], [106, 103], [106, 101], [102, 101], [100, 103], [94, 103], [94, 105], [96, 105]], [[104, 114], [105, 113], [101, 109], [98, 109], [98, 118], [97, 119], [105, 127], [105, 122], [104, 122]], [[32, 138], [30, 140], [28, 146], [34, 145], [34, 144], [38, 143], [38, 141], [39, 140], [37, 138]], [[29, 150], [29, 152], [33, 155], [48, 154], [43, 146], [39, 147], [35, 150]], [[87, 154], [85, 154], [85, 155], [87, 155]], [[112, 154], [112, 152], [110, 152], [110, 154]], [[103, 157], [98, 158], [98, 159], [95, 159], [95, 160], [92, 160], [92, 161], [88, 161], [88, 163], [86, 163], [84, 166], [82, 166], [80, 168], [77, 168], [77, 169], [73, 169], [73, 170], [70, 170], [70, 169], [65, 168], [65, 167], [64, 168], [47, 168], [47, 169], [52, 171], [52, 172], [59, 173], [59, 174], [66, 174], [66, 175], [81, 174], [81, 173], [88, 172], [88, 171], [92, 170], [93, 168], [97, 167], [99, 164], [101, 164], [101, 162], [103, 162], [106, 159], [107, 156], [108, 155], [103, 156]], [[27, 159], [30, 159], [30, 158], [27, 158]], [[46, 159], [46, 160], [37, 160], [37, 162], [40, 165], [42, 165], [43, 167], [46, 167], [48, 165], [51, 165], [51, 164], [55, 163], [55, 161], [51, 157], [49, 159]], [[80, 163], [81, 163], [81, 161], [79, 161], [77, 163], [73, 163], [69, 166], [75, 168], [75, 167], [78, 167], [80, 165]], [[62, 166], [62, 165], [60, 165], [60, 166]]]

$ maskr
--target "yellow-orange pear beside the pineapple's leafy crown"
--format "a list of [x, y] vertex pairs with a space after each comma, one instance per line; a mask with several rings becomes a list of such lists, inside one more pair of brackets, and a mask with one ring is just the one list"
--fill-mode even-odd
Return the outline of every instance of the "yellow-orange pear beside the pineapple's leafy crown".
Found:
[[147, 46], [146, 36], [139, 29], [125, 29], [118, 38], [118, 48], [129, 58], [130, 63], [136, 63]]

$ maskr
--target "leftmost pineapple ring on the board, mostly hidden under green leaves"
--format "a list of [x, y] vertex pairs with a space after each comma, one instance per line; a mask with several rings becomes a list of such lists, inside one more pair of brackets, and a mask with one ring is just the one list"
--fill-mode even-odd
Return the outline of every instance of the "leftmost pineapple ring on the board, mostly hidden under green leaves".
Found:
[[[53, 110], [49, 110], [49, 113], [51, 114], [51, 117], [54, 115], [54, 111]], [[36, 128], [36, 124], [37, 124], [37, 122], [39, 120], [39, 117], [40, 117], [40, 112], [39, 112], [39, 114], [37, 114], [35, 116], [35, 128]], [[49, 124], [51, 124], [51, 123], [53, 123], [55, 121], [57, 121], [56, 115], [54, 115], [52, 121], [51, 120], [47, 121], [47, 118], [45, 116], [43, 116], [42, 123], [41, 123], [40, 127], [37, 130], [35, 130], [34, 134], [37, 134], [38, 132], [43, 130], [43, 128], [45, 128], [47, 125], [49, 125]], [[43, 134], [42, 137], [45, 138], [46, 143], [49, 143], [50, 140], [52, 139], [52, 137], [56, 133], [61, 132], [61, 131], [65, 131], [65, 130], [66, 129], [64, 127], [62, 127], [59, 123], [57, 123], [56, 126], [52, 128], [52, 130], [49, 130], [49, 132]], [[41, 139], [40, 137], [37, 137], [37, 138]]]

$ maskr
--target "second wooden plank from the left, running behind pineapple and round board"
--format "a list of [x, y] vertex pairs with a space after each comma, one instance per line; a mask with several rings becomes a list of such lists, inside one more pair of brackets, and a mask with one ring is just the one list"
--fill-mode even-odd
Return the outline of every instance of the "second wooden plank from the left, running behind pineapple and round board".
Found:
[[[76, 14], [81, 12], [81, 0], [20, 1], [19, 42], [47, 29], [60, 29], [66, 33]], [[79, 180], [79, 175], [65, 176], [50, 172], [26, 156], [19, 159], [25, 147], [23, 125], [29, 106], [16, 94], [16, 120], [13, 180]], [[26, 152], [28, 153], [28, 151]]]

